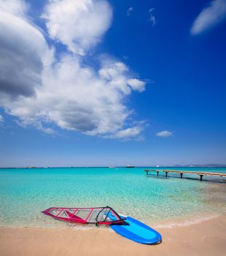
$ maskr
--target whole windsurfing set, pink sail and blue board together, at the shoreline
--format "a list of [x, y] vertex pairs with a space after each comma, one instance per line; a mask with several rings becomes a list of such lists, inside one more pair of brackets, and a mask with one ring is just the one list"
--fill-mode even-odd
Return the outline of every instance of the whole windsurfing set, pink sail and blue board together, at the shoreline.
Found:
[[131, 217], [122, 217], [109, 206], [93, 208], [51, 207], [42, 211], [55, 219], [82, 224], [110, 225], [116, 233], [141, 244], [159, 244], [162, 236]]

